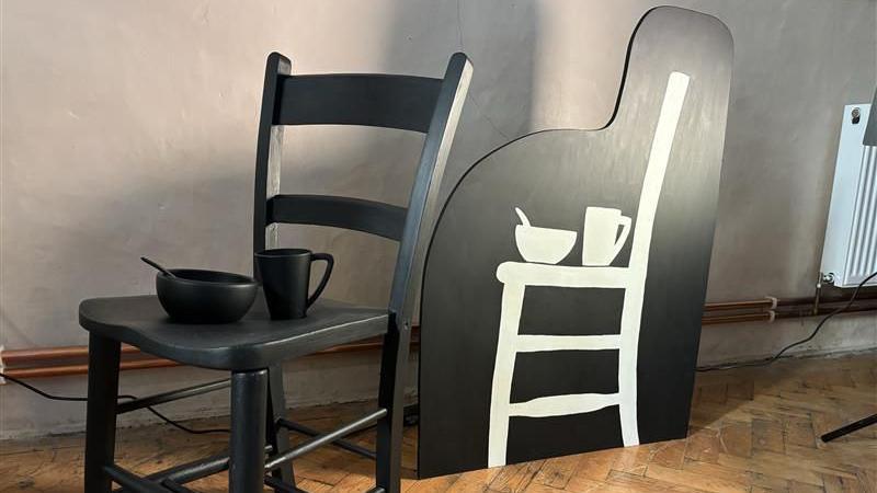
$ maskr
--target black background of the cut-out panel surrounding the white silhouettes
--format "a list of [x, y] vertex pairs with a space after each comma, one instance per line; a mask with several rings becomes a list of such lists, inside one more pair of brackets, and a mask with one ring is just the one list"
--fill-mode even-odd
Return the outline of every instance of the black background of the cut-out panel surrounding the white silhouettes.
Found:
[[[640, 443], [685, 435], [731, 58], [731, 37], [718, 20], [683, 9], [654, 9], [635, 33], [616, 114], [605, 128], [528, 135], [496, 150], [464, 176], [440, 217], [424, 276], [421, 477], [487, 465], [502, 298], [496, 271], [502, 262], [523, 261], [515, 246], [514, 207], [526, 211], [534, 226], [579, 232], [561, 265], [581, 265], [586, 206], [619, 208], [636, 228], [649, 149], [672, 71], [691, 80], [651, 239], [639, 337], [638, 422]], [[630, 243], [628, 239], [614, 266], [627, 265]], [[610, 289], [528, 288], [521, 333], [617, 333], [620, 302], [619, 293]], [[585, 359], [565, 359], [562, 365], [550, 357], [524, 357], [515, 375], [550, 376], [560, 369], [566, 381], [561, 386], [546, 377], [545, 395], [605, 389], [606, 376], [617, 375], [616, 360], [596, 353], [581, 356]], [[532, 397], [537, 387], [516, 377], [512, 393]], [[570, 416], [513, 417], [506, 461], [622, 446], [617, 411], [610, 406]]]

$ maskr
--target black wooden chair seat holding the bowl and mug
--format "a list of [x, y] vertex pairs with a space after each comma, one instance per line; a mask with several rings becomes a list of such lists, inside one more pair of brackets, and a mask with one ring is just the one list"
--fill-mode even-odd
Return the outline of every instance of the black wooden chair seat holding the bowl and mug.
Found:
[[87, 299], [79, 305], [79, 323], [87, 331], [174, 362], [250, 370], [381, 335], [388, 312], [319, 299], [304, 319], [271, 320], [260, 291], [250, 312], [238, 322], [182, 324], [171, 321], [151, 295]]

